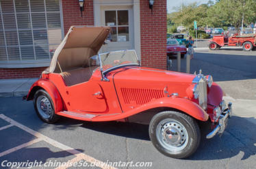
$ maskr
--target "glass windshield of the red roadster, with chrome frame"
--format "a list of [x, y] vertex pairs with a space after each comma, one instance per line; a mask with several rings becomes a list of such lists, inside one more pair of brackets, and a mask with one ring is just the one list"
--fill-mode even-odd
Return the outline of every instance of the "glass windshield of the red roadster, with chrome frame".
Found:
[[135, 50], [120, 50], [99, 54], [103, 71], [122, 65], [140, 65]]

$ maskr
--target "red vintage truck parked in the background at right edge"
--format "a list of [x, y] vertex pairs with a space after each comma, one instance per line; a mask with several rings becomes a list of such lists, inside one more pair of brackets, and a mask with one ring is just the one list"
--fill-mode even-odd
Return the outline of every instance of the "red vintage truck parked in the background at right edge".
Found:
[[244, 51], [256, 49], [256, 34], [248, 35], [216, 35], [212, 40], [209, 40], [209, 49], [216, 50], [222, 46], [242, 46]]

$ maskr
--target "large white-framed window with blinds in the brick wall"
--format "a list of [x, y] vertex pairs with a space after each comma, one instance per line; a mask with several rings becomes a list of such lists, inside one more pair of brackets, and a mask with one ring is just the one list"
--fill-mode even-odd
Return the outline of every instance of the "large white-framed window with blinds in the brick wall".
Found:
[[0, 63], [42, 61], [62, 41], [60, 0], [0, 0]]

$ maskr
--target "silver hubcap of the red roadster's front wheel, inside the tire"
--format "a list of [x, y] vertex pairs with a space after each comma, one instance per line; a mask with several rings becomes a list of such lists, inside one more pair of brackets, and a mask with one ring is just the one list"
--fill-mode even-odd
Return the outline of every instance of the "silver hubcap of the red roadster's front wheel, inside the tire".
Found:
[[188, 144], [188, 132], [175, 119], [164, 119], [157, 125], [157, 140], [170, 151], [181, 151]]

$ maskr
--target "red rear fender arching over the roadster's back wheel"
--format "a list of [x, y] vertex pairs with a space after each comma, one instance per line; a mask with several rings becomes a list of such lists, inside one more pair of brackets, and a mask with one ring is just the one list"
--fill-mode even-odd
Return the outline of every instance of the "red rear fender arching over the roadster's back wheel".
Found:
[[34, 82], [29, 90], [29, 93], [27, 94], [27, 100], [34, 99], [34, 94], [39, 89], [44, 89], [45, 91], [47, 91], [47, 93], [49, 93], [54, 104], [55, 112], [60, 112], [63, 109], [62, 97], [60, 96], [59, 91], [57, 91], [57, 88], [55, 87], [53, 82], [47, 79], [40, 79]]

